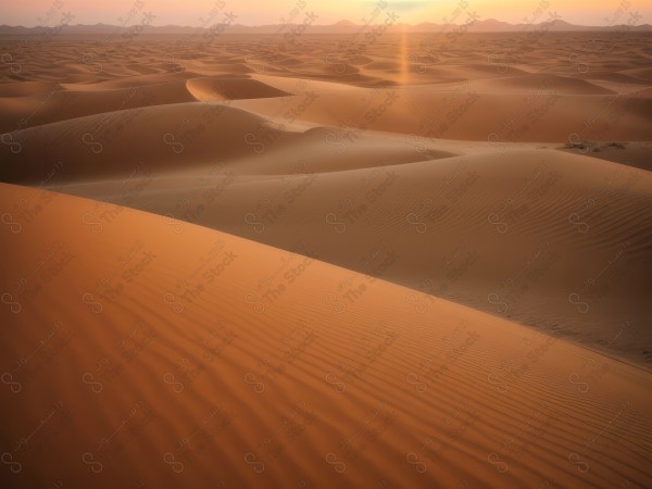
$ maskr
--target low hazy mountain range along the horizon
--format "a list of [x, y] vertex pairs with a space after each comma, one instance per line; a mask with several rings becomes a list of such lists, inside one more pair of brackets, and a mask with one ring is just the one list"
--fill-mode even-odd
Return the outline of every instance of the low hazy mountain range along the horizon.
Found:
[[[383, 29], [383, 27], [386, 27]], [[177, 34], [177, 35], [196, 35], [202, 33], [225, 33], [225, 34], [286, 34], [286, 33], [305, 33], [305, 34], [355, 34], [368, 32], [388, 32], [388, 33], [536, 33], [536, 32], [600, 32], [600, 30], [629, 30], [629, 32], [652, 32], [652, 25], [612, 25], [612, 26], [586, 26], [568, 24], [562, 20], [553, 20], [550, 22], [541, 22], [538, 24], [510, 24], [507, 22], [488, 18], [484, 21], [473, 21], [466, 24], [436, 24], [431, 22], [423, 22], [416, 25], [410, 24], [392, 24], [385, 26], [378, 25], [359, 25], [350, 21], [340, 21], [330, 25], [306, 25], [306, 24], [273, 24], [260, 26], [247, 26], [242, 24], [217, 23], [209, 27], [189, 27], [178, 25], [152, 26], [152, 25], [133, 25], [133, 26], [116, 26], [109, 24], [95, 25], [59, 25], [53, 27], [24, 27], [0, 25], [0, 35], [43, 35], [51, 36], [53, 34], [96, 34], [104, 36], [129, 37], [129, 34]]]

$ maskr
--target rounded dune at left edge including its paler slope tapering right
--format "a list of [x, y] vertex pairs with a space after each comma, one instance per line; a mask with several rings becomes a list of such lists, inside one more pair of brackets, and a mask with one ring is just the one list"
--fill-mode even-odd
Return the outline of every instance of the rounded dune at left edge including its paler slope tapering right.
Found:
[[[205, 174], [206, 166], [227, 159], [235, 161], [239, 174], [284, 175], [294, 172], [299, 160], [296, 155], [303, 151], [314, 151], [310, 158], [312, 172], [456, 154], [434, 149], [432, 145], [424, 154], [406, 140], [397, 145], [396, 138], [383, 135], [358, 131], [342, 138], [333, 128], [306, 129], [309, 126], [291, 118], [297, 103], [311, 102], [310, 93], [284, 99], [279, 122], [238, 109], [236, 102], [226, 100], [121, 110], [13, 131], [12, 145], [0, 147], [5, 162], [0, 175], [10, 181], [53, 185], [103, 175], [125, 177], [135, 167], [154, 175], [171, 171]], [[129, 152], [125, 153], [125, 146]], [[48, 151], [45, 159], [43, 149]]]

